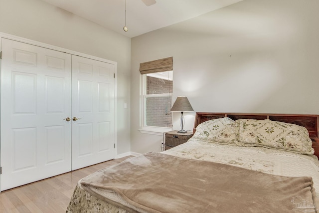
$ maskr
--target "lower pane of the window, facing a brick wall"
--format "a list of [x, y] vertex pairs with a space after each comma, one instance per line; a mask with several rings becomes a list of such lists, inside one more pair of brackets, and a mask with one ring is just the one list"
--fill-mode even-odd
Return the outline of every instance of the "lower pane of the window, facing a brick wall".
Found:
[[171, 127], [171, 97], [146, 98], [146, 126]]

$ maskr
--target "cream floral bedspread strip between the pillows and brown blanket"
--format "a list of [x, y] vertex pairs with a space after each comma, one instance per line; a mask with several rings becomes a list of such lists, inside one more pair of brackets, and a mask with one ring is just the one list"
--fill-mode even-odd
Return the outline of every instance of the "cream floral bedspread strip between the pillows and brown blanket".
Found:
[[[228, 164], [273, 175], [309, 176], [313, 178], [314, 188], [319, 190], [319, 161], [315, 155], [302, 155], [264, 147], [227, 146], [193, 139], [163, 153]], [[319, 198], [319, 193], [316, 196]]]

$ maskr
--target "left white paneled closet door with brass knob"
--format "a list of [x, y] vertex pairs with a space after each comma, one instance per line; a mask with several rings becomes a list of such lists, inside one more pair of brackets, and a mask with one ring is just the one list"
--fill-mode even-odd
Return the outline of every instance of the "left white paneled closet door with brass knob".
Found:
[[71, 170], [71, 55], [1, 39], [1, 190]]

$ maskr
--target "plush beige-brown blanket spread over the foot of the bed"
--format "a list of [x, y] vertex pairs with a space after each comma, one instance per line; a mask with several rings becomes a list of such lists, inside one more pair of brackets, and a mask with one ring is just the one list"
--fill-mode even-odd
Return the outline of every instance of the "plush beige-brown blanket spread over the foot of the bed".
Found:
[[311, 177], [275, 176], [161, 153], [130, 158], [82, 179], [81, 185], [100, 200], [117, 203], [103, 193], [116, 192], [125, 202], [150, 213], [316, 209]]

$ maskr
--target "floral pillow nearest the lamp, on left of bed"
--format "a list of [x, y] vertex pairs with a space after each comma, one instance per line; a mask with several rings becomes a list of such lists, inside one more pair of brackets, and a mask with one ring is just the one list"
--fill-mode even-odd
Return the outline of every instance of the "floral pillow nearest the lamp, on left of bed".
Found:
[[192, 139], [235, 145], [237, 142], [235, 124], [235, 121], [227, 117], [205, 121], [196, 127]]

